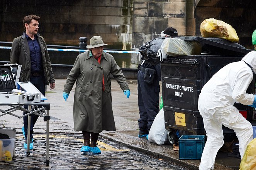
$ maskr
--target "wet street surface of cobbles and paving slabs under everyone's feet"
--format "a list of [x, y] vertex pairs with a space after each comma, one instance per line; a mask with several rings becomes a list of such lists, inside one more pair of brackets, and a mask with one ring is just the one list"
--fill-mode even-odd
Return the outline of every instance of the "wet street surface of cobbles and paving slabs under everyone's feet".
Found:
[[[145, 138], [138, 138], [139, 109], [137, 84], [134, 80], [128, 81], [131, 90], [129, 99], [125, 97], [119, 84], [115, 80], [111, 80], [112, 107], [116, 131], [100, 133], [101, 139], [98, 141], [100, 146], [103, 145], [101, 143], [103, 142], [109, 144], [112, 148], [121, 149], [121, 151], [103, 150], [104, 148], [101, 147], [101, 155], [81, 155], [80, 148], [82, 142], [80, 140], [78, 141], [78, 138], [74, 136], [74, 134], [80, 134], [81, 136], [81, 132], [74, 130], [73, 123], [75, 87], [73, 87], [68, 100], [64, 101], [62, 93], [65, 82], [66, 80], [64, 79], [56, 79], [56, 85], [53, 90], [49, 90], [49, 86], [47, 86], [46, 97], [48, 100], [46, 100], [46, 102], [51, 103], [49, 122], [51, 140], [50, 166], [47, 167], [44, 163], [46, 160], [45, 139], [42, 136], [37, 136], [46, 133], [46, 122], [43, 121], [43, 118], [37, 120], [33, 129], [36, 137], [34, 150], [32, 150], [30, 157], [26, 157], [25, 150], [22, 147], [24, 138], [20, 135], [22, 134], [21, 128], [23, 127], [23, 120], [11, 115], [3, 115], [0, 117], [0, 128], [14, 128], [16, 130], [17, 144], [15, 160], [11, 162], [0, 162], [0, 170], [6, 169], [6, 166], [8, 169], [115, 169], [116, 165], [118, 165], [119, 169], [141, 169], [140, 166], [142, 165], [144, 169], [156, 169], [157, 165], [159, 169], [166, 169], [167, 167], [167, 169], [178, 170], [178, 166], [171, 166], [173, 165], [172, 163], [190, 170], [198, 170], [200, 160], [179, 160], [179, 152], [173, 150], [171, 144], [157, 145], [156, 143], [150, 143]], [[161, 95], [160, 88], [159, 97], [161, 97]], [[8, 107], [1, 107], [1, 109], [8, 109]], [[15, 111], [15, 113], [23, 114], [20, 111]], [[64, 136], [58, 136], [57, 134]], [[67, 134], [72, 134], [73, 136], [68, 136]], [[102, 138], [107, 140], [103, 140]], [[110, 141], [119, 143], [124, 147], [117, 147], [116, 144]], [[104, 147], [108, 148], [107, 146], [109, 145], [104, 145]], [[126, 149], [130, 150], [126, 151]], [[145, 154], [152, 155], [154, 158], [148, 156], [145, 158]], [[135, 157], [136, 155], [139, 156]], [[214, 170], [239, 170], [241, 159], [227, 157], [227, 155], [228, 153], [217, 155]], [[112, 157], [115, 159], [112, 159]], [[162, 159], [164, 161], [162, 161]]]

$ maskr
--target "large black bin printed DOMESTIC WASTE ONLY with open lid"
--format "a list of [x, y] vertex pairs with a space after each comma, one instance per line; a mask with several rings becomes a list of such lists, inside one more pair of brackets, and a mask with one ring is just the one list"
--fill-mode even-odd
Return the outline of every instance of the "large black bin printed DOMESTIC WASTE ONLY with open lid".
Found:
[[[201, 55], [168, 56], [161, 65], [164, 122], [169, 130], [171, 143], [180, 135], [205, 135], [203, 119], [197, 109], [198, 97], [203, 85], [220, 68], [242, 59], [248, 50], [238, 43], [222, 38], [178, 37], [184, 41], [199, 42]], [[255, 77], [247, 93], [255, 93]], [[235, 103], [234, 106], [252, 122], [253, 108]], [[178, 132], [178, 133], [177, 133]], [[224, 141], [236, 138], [233, 130], [223, 127]]]

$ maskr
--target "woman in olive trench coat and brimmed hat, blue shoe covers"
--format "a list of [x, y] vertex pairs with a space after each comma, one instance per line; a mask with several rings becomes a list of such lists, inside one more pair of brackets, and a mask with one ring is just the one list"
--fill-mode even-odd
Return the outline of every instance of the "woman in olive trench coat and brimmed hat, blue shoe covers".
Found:
[[[76, 82], [74, 97], [74, 128], [83, 132], [84, 146], [81, 152], [100, 154], [97, 147], [98, 135], [102, 130], [114, 131], [110, 74], [130, 96], [128, 83], [114, 57], [103, 51], [107, 44], [100, 36], [94, 36], [87, 45], [88, 52], [76, 58], [63, 90], [64, 100], [68, 98]], [[90, 143], [91, 136], [91, 143]]]

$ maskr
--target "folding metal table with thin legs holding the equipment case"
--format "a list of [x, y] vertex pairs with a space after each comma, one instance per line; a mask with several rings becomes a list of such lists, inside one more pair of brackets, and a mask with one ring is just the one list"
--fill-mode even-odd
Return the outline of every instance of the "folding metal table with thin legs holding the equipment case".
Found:
[[[49, 116], [49, 110], [50, 110], [50, 103], [46, 103], [46, 102], [37, 102], [37, 103], [25, 103], [25, 104], [8, 104], [8, 103], [0, 103], [0, 107], [1, 106], [9, 106], [10, 108], [8, 108], [7, 110], [2, 110], [0, 109], [0, 112], [2, 112], [3, 114], [0, 114], [0, 117], [3, 115], [12, 115], [15, 116], [17, 118], [23, 118], [25, 116], [28, 116], [28, 126], [30, 127], [30, 123], [31, 123], [31, 114], [34, 115], [38, 115], [40, 117], [44, 118], [44, 122], [46, 122], [46, 165], [49, 166], [49, 120], [50, 120], [50, 116]], [[28, 106], [28, 109], [25, 109], [23, 106]], [[13, 112], [16, 110], [21, 110], [23, 112], [27, 112], [25, 115], [23, 115], [22, 112], [22, 116], [16, 115]], [[29, 144], [30, 144], [30, 130], [27, 131], [27, 157], [29, 157], [30, 155], [30, 150], [29, 150]]]

